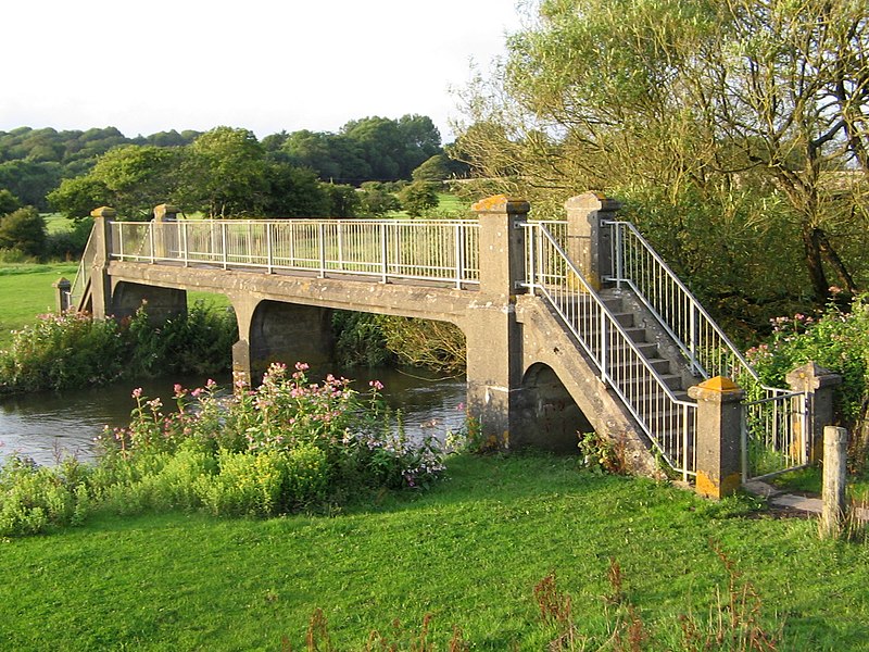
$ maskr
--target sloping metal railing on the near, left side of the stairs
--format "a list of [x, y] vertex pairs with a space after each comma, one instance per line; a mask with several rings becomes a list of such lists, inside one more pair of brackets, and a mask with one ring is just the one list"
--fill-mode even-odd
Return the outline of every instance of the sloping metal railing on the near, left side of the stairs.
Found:
[[544, 223], [528, 223], [525, 284], [545, 298], [667, 463], [683, 477], [696, 468], [696, 403], [676, 397], [643, 347], [569, 260]]

